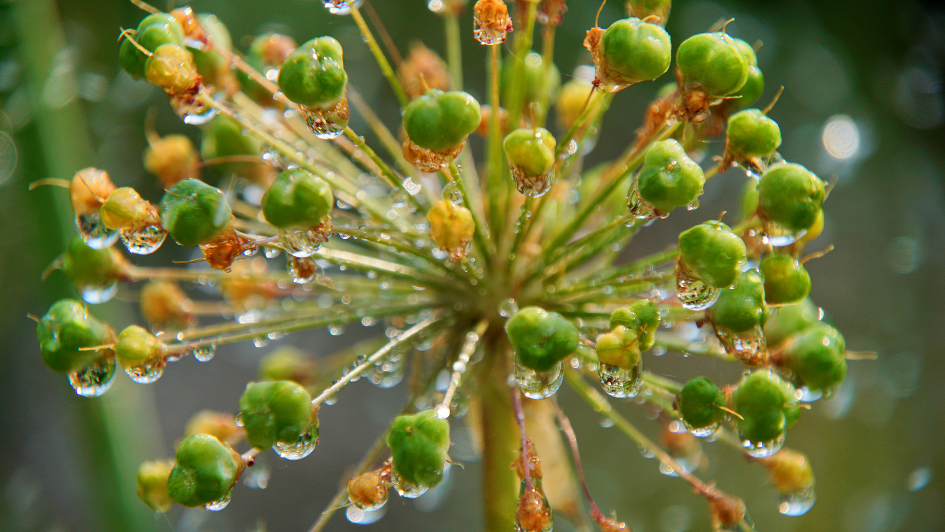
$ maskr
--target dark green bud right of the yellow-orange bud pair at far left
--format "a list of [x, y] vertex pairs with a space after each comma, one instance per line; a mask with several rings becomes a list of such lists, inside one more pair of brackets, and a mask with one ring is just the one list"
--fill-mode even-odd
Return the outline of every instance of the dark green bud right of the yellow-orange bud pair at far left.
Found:
[[181, 246], [212, 241], [230, 225], [231, 218], [223, 192], [203, 181], [179, 181], [161, 199], [162, 225]]

